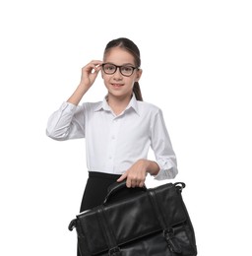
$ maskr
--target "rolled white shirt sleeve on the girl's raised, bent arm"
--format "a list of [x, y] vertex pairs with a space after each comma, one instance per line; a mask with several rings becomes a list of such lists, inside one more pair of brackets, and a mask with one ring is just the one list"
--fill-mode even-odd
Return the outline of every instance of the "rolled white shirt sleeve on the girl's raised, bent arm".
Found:
[[85, 113], [83, 106], [63, 102], [47, 122], [46, 135], [64, 141], [85, 137]]

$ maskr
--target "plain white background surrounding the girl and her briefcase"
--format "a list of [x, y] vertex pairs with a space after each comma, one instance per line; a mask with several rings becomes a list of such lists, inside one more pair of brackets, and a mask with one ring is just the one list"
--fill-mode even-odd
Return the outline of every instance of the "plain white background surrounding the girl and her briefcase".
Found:
[[[166, 182], [187, 185], [199, 255], [249, 254], [250, 2], [1, 0], [1, 255], [76, 255], [67, 226], [87, 179], [85, 141], [53, 141], [45, 127], [119, 36], [141, 50], [144, 99], [162, 109], [178, 159]], [[99, 76], [86, 100], [104, 94]]]

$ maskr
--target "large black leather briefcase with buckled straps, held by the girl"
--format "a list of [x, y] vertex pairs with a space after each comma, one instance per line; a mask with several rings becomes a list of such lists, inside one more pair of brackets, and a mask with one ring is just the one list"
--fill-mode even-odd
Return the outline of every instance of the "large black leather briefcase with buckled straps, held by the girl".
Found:
[[181, 192], [183, 182], [156, 188], [109, 187], [102, 205], [77, 215], [82, 256], [196, 256], [197, 247]]

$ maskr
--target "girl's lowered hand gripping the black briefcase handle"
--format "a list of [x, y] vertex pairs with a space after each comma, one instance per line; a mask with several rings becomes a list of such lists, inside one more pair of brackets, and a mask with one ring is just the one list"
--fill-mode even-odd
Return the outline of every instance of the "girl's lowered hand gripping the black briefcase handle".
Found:
[[145, 185], [148, 164], [148, 160], [137, 160], [117, 179], [117, 182], [121, 182], [127, 178], [127, 187], [143, 187]]

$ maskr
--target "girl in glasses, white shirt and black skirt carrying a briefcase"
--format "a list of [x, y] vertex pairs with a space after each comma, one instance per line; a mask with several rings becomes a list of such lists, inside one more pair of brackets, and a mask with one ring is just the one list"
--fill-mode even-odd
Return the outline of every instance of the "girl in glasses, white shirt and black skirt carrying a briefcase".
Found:
[[[103, 60], [93, 60], [82, 69], [76, 91], [49, 117], [50, 138], [86, 138], [89, 179], [81, 212], [101, 204], [113, 182], [126, 179], [127, 187], [142, 187], [148, 173], [158, 180], [177, 174], [161, 110], [143, 101], [140, 66], [140, 51], [132, 40], [111, 40]], [[79, 105], [99, 72], [107, 95], [103, 101]], [[147, 160], [150, 147], [156, 160]]]

